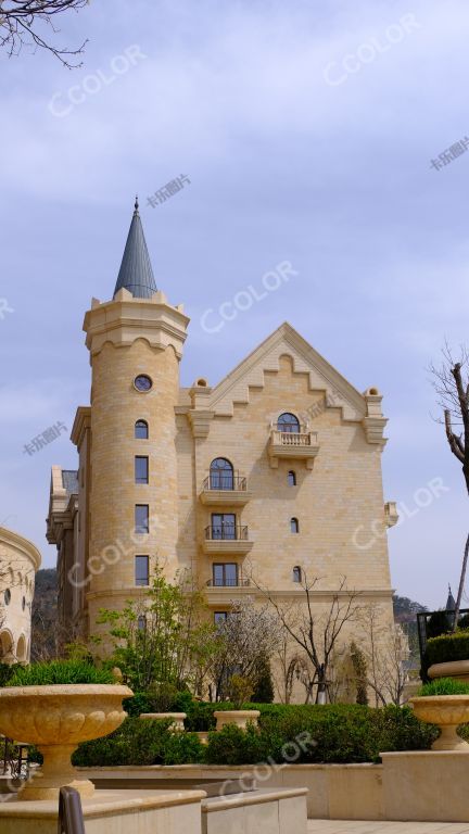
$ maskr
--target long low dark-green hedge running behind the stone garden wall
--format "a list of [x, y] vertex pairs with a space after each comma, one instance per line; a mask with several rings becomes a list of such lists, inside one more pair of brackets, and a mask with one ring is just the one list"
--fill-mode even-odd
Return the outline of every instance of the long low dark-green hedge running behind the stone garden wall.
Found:
[[[213, 711], [218, 705], [198, 706]], [[73, 762], [83, 767], [372, 762], [386, 750], [428, 749], [439, 733], [418, 721], [408, 707], [250, 706], [262, 711], [258, 730], [228, 725], [211, 732], [206, 747], [193, 733], [169, 732], [169, 720], [128, 718], [111, 735], [81, 744]]]

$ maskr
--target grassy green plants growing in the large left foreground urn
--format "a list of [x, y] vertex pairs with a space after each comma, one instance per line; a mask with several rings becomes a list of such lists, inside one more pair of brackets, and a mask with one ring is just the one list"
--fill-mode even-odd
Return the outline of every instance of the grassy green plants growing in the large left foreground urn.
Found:
[[17, 667], [7, 686], [48, 686], [55, 683], [116, 683], [109, 669], [97, 669], [83, 660], [51, 660]]

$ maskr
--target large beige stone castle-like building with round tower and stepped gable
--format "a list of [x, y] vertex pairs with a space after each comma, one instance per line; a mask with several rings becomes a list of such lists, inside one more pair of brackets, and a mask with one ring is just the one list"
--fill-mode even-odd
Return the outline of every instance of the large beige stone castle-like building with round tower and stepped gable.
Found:
[[150, 582], [188, 568], [215, 619], [230, 601], [325, 606], [343, 577], [392, 622], [377, 388], [357, 391], [284, 323], [216, 386], [179, 383], [189, 319], [156, 289], [136, 207], [111, 301], [84, 330], [91, 404], [77, 410], [78, 469], [52, 470], [61, 618], [92, 631]]

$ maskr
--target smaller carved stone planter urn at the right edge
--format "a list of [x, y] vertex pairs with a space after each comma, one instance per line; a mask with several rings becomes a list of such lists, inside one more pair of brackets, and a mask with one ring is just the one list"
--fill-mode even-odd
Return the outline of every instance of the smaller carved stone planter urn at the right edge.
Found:
[[436, 724], [441, 730], [440, 737], [432, 744], [432, 750], [469, 753], [469, 744], [456, 732], [459, 724], [469, 721], [469, 695], [426, 695], [410, 698], [409, 704], [417, 718], [428, 724]]

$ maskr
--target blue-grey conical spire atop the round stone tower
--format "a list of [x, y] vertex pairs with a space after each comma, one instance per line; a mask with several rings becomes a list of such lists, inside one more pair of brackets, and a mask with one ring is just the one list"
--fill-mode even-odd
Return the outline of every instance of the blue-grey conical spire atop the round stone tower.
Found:
[[151, 299], [156, 292], [153, 269], [138, 211], [138, 197], [136, 197], [134, 217], [127, 236], [114, 295], [123, 288], [131, 292], [136, 299]]

